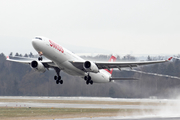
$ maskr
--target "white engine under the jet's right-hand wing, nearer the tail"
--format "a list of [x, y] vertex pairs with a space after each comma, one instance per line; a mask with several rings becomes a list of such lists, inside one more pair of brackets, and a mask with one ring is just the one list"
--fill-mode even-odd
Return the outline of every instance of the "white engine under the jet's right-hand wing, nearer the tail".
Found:
[[99, 72], [99, 69], [98, 67], [96, 66], [95, 63], [91, 62], [91, 61], [86, 61], [83, 65], [84, 69], [87, 71], [87, 72], [94, 72], [94, 73], [98, 73]]

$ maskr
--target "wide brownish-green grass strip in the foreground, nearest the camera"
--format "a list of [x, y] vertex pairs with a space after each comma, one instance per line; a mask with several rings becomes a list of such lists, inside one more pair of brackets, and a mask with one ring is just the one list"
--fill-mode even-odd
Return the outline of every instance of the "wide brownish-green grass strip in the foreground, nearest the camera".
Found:
[[79, 117], [129, 116], [152, 110], [140, 109], [81, 109], [81, 108], [0, 108], [1, 120], [55, 119]]

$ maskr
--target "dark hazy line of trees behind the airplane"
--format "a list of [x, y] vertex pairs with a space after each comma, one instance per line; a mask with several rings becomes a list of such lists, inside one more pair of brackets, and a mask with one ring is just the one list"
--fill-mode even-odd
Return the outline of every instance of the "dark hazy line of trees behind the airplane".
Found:
[[[10, 53], [10, 55], [13, 55]], [[15, 54], [15, 56], [23, 56]], [[25, 54], [24, 57], [36, 55]], [[111, 55], [82, 56], [84, 59], [108, 61]], [[159, 58], [159, 56], [157, 57]], [[147, 60], [154, 60], [147, 56]], [[136, 57], [117, 56], [117, 61], [136, 60]], [[180, 61], [148, 65], [136, 68], [140, 71], [180, 77]], [[113, 77], [136, 77], [134, 81], [115, 81], [112, 83], [94, 83], [86, 85], [80, 77], [74, 77], [61, 72], [63, 85], [57, 85], [53, 80], [54, 70], [39, 73], [29, 65], [6, 61], [0, 54], [0, 95], [1, 96], [93, 96], [117, 98], [172, 98], [179, 95], [180, 79], [163, 76], [147, 75], [133, 71], [114, 70]]]

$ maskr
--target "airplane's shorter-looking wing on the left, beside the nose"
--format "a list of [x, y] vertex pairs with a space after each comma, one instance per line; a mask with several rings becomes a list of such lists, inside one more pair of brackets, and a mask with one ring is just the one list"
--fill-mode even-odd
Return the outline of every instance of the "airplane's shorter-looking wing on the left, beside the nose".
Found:
[[[28, 58], [28, 57], [18, 57], [18, 56], [7, 56], [8, 61], [30, 64], [32, 61], [38, 61], [38, 58]], [[58, 67], [53, 61], [45, 59], [41, 61], [45, 68], [54, 68]]]

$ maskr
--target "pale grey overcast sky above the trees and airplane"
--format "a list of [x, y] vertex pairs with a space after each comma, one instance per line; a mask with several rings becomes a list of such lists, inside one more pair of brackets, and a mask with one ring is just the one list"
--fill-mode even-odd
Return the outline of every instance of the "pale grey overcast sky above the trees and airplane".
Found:
[[0, 53], [36, 53], [31, 39], [40, 35], [74, 52], [179, 54], [179, 5], [179, 0], [1, 0]]

